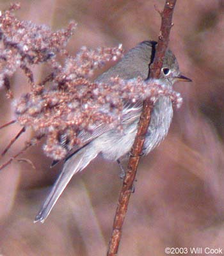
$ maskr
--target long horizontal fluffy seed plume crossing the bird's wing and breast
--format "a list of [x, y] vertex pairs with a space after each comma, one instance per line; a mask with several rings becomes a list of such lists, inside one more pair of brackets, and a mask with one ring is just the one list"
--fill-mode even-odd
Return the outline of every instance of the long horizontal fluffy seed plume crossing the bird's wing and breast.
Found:
[[134, 104], [147, 97], [156, 100], [161, 95], [170, 97], [178, 107], [182, 102], [179, 93], [159, 80], [143, 81], [141, 77], [131, 80], [114, 77], [108, 83], [77, 78], [66, 84], [66, 87], [58, 85], [42, 90], [38, 95], [29, 93], [16, 106], [20, 124], [46, 134], [45, 153], [58, 160], [75, 145], [82, 145], [84, 141], [78, 136], [80, 132], [91, 134], [102, 124], [111, 129], [121, 127], [125, 102]]

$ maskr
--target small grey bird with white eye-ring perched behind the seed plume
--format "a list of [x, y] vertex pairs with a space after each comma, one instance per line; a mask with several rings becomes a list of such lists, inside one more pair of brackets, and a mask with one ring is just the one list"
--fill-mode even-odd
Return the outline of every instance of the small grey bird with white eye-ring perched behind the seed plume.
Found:
[[[119, 76], [122, 79], [132, 79], [142, 77], [148, 79], [150, 74], [150, 64], [154, 60], [157, 42], [145, 41], [132, 48], [124, 57], [109, 68], [108, 71], [100, 75], [96, 81], [109, 81], [111, 77]], [[179, 65], [173, 53], [166, 51], [163, 68], [160, 76], [161, 83], [172, 87], [176, 81], [191, 81], [191, 79], [181, 76]], [[118, 161], [127, 155], [132, 147], [138, 122], [141, 114], [143, 102], [131, 104], [127, 102], [122, 111], [123, 132], [111, 129], [108, 125], [102, 124], [95, 128], [91, 134], [81, 132], [79, 138], [86, 141], [81, 148], [76, 148], [70, 156], [65, 159], [63, 170], [47, 196], [40, 212], [36, 215], [35, 222], [46, 220], [59, 196], [67, 186], [72, 176], [83, 170], [97, 155], [105, 159]], [[161, 96], [157, 99], [152, 110], [150, 125], [143, 146], [143, 154], [148, 154], [164, 139], [168, 133], [172, 122], [173, 108], [169, 97]]]

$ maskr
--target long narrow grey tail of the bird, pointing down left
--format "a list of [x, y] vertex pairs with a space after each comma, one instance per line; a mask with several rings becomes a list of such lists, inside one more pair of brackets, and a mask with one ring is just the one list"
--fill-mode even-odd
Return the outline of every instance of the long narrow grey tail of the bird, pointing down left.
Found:
[[56, 180], [53, 188], [51, 189], [51, 193], [47, 196], [44, 204], [42, 205], [42, 208], [36, 215], [34, 221], [35, 223], [38, 221], [44, 223], [47, 216], [51, 212], [52, 207], [54, 207], [54, 204], [56, 204], [59, 196], [67, 186], [70, 179], [72, 179], [72, 176], [75, 173], [83, 170], [90, 163], [90, 161], [92, 161], [97, 156], [97, 154], [98, 152], [90, 143], [86, 145], [86, 147], [81, 148], [81, 150], [79, 150], [76, 154], [65, 161], [63, 170]]

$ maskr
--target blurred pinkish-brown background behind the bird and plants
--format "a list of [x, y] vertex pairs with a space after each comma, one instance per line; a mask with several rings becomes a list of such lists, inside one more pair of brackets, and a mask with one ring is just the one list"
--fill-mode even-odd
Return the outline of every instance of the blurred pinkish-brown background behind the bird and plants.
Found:
[[[11, 1], [0, 1], [0, 9]], [[157, 40], [161, 19], [154, 9], [163, 0], [40, 0], [21, 1], [17, 17], [63, 28], [69, 20], [78, 27], [68, 44], [75, 53], [88, 47], [134, 47]], [[224, 1], [177, 1], [170, 48], [182, 73], [193, 83], [178, 83], [184, 104], [175, 110], [169, 135], [141, 159], [136, 191], [131, 196], [119, 255], [165, 255], [166, 247], [224, 247]], [[34, 69], [40, 81], [42, 67]], [[19, 97], [29, 85], [19, 72], [13, 78]], [[13, 118], [12, 102], [0, 95], [0, 124]], [[1, 151], [19, 131], [18, 125], [0, 131]], [[27, 131], [4, 163], [32, 134]], [[121, 181], [116, 163], [96, 159], [78, 173], [42, 224], [33, 224], [49, 186], [61, 166], [41, 145], [0, 172], [0, 255], [106, 255]], [[191, 253], [188, 253], [191, 255]], [[203, 254], [205, 255], [204, 251]], [[210, 255], [210, 254], [206, 254]]]

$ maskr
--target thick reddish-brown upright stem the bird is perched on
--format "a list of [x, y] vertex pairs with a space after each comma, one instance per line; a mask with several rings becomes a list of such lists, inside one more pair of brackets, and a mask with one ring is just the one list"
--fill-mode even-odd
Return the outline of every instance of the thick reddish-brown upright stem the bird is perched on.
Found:
[[[156, 56], [154, 59], [154, 63], [150, 68], [150, 77], [152, 78], [159, 78], [161, 72], [164, 54], [168, 47], [170, 29], [172, 28], [172, 16], [175, 3], [176, 0], [166, 0], [163, 13], [161, 13], [162, 22], [156, 49]], [[150, 114], [152, 108], [152, 102], [150, 101], [150, 99], [146, 99], [143, 104], [143, 110], [138, 125], [138, 132], [132, 146], [131, 156], [129, 157], [126, 177], [124, 179], [122, 190], [118, 199], [118, 206], [116, 208], [116, 214], [113, 223], [113, 232], [111, 234], [111, 240], [109, 242], [108, 256], [115, 256], [118, 252], [118, 246], [120, 244], [120, 238], [122, 236], [122, 225], [124, 223], [124, 218], [127, 212], [127, 206], [129, 204], [129, 198], [133, 188], [138, 163], [140, 161], [140, 156], [145, 141], [145, 134], [148, 130], [148, 125], [150, 123]]]

